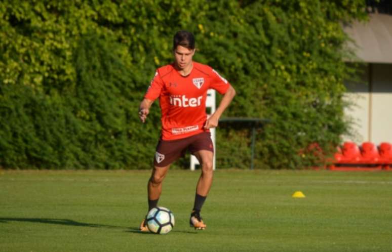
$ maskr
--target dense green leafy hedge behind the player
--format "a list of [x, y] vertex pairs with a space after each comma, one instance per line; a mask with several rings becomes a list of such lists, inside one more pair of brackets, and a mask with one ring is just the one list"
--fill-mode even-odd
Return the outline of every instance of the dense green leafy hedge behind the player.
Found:
[[[154, 104], [138, 104], [154, 69], [172, 60], [179, 29], [195, 60], [238, 95], [225, 116], [263, 117], [256, 168], [315, 163], [348, 129], [343, 79], [352, 68], [340, 22], [366, 19], [364, 1], [0, 2], [0, 166], [147, 169], [159, 137]], [[248, 167], [250, 131], [221, 125], [217, 167]], [[311, 152], [311, 151], [310, 151]], [[187, 166], [184, 159], [177, 166]]]

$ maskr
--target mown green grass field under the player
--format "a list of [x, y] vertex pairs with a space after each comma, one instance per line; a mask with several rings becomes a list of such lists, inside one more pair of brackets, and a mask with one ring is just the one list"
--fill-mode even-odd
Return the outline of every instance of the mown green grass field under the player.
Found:
[[[392, 172], [216, 171], [188, 226], [199, 172], [170, 171], [176, 226], [138, 231], [149, 171], [0, 171], [0, 251], [392, 251]], [[302, 191], [306, 198], [292, 198]]]

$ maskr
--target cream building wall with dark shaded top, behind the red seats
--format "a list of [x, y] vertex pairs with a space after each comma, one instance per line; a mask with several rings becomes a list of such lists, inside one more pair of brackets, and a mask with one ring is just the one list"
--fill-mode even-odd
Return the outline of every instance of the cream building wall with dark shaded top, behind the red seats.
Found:
[[343, 136], [343, 141], [392, 143], [392, 64], [371, 64], [362, 70], [361, 80], [346, 83], [344, 99], [355, 104], [345, 109], [354, 136]]

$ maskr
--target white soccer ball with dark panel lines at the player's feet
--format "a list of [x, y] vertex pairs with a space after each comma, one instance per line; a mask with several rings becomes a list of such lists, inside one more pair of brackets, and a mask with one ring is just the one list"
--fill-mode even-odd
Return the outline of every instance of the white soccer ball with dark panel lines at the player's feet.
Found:
[[147, 227], [155, 234], [167, 234], [174, 227], [174, 215], [166, 207], [152, 208], [147, 214]]

